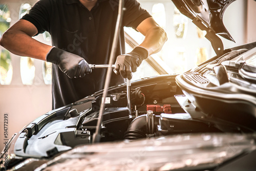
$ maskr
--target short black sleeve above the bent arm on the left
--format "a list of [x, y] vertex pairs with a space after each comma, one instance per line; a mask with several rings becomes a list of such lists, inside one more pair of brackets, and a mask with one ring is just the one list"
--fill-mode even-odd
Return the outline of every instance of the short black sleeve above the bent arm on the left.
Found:
[[44, 33], [50, 30], [50, 13], [51, 0], [40, 0], [21, 19], [32, 23], [37, 28], [37, 34]]

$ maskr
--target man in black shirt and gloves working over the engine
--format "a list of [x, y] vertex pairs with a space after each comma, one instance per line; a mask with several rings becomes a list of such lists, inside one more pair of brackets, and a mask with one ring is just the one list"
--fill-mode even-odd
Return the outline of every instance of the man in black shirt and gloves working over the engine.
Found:
[[[86, 73], [88, 63], [109, 62], [118, 4], [118, 0], [40, 0], [29, 14], [3, 34], [0, 44], [16, 55], [55, 64], [52, 66], [52, 108], [59, 108], [103, 89], [105, 69]], [[163, 29], [136, 0], [125, 0], [124, 7], [116, 47], [117, 75], [112, 75], [110, 86], [123, 83], [126, 77], [131, 79], [142, 60], [160, 51], [167, 39]], [[142, 44], [127, 54], [124, 26], [145, 35]], [[53, 46], [32, 38], [45, 31], [51, 34]]]

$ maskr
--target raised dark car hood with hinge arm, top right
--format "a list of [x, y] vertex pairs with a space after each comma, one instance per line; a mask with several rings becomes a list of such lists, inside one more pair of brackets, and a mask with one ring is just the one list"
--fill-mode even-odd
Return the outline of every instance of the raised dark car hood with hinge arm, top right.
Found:
[[207, 33], [205, 37], [210, 40], [218, 56], [223, 55], [223, 44], [220, 35], [234, 41], [223, 24], [223, 14], [226, 8], [236, 0], [172, 0], [180, 12]]

